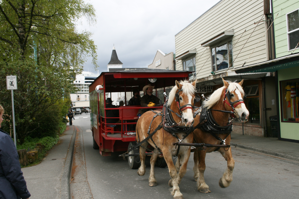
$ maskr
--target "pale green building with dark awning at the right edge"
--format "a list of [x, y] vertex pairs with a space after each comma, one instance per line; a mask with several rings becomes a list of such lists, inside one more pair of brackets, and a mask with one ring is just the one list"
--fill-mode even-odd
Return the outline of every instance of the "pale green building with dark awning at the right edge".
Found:
[[[299, 2], [272, 0], [273, 59], [239, 68], [236, 73], [272, 72], [275, 76], [278, 139], [299, 143]], [[276, 17], [277, 16], [277, 17]], [[274, 30], [274, 31], [273, 31]]]

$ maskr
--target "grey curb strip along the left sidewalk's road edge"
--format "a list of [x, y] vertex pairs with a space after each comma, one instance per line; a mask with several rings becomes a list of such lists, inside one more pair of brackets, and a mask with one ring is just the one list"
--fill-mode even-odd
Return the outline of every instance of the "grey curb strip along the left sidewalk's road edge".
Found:
[[61, 176], [61, 199], [71, 198], [69, 179], [72, 172], [72, 160], [73, 160], [74, 146], [76, 141], [76, 133], [77, 133], [77, 129], [76, 126], [74, 126], [72, 140], [69, 144], [69, 150], [66, 155], [66, 162], [64, 164], [64, 168]]

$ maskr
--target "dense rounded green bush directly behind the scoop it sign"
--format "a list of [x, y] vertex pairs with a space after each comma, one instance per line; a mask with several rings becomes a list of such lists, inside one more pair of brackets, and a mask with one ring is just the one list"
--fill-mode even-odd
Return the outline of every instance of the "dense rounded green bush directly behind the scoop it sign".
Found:
[[11, 94], [10, 90], [6, 90], [5, 76], [17, 74], [18, 89], [14, 90], [14, 111], [20, 144], [28, 135], [42, 137], [41, 135], [49, 136], [49, 131], [58, 131], [59, 122], [70, 105], [67, 93], [75, 90], [69, 73], [56, 73], [46, 66], [37, 67], [27, 61], [0, 64], [0, 102], [5, 109], [3, 130], [9, 131], [12, 125]]

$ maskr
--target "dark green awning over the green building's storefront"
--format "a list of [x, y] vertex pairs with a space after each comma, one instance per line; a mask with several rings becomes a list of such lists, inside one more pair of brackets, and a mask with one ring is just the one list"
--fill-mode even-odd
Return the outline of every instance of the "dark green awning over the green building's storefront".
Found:
[[280, 69], [291, 68], [295, 66], [299, 66], [299, 52], [257, 64], [234, 68], [232, 71], [235, 71], [237, 74], [275, 72]]

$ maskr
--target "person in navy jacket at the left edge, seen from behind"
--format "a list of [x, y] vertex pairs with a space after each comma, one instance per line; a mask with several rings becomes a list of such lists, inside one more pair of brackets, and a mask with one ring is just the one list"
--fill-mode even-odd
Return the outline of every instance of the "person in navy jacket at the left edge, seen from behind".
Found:
[[[0, 128], [3, 113], [0, 105]], [[14, 142], [8, 133], [0, 129], [0, 198], [28, 199], [30, 196]]]

